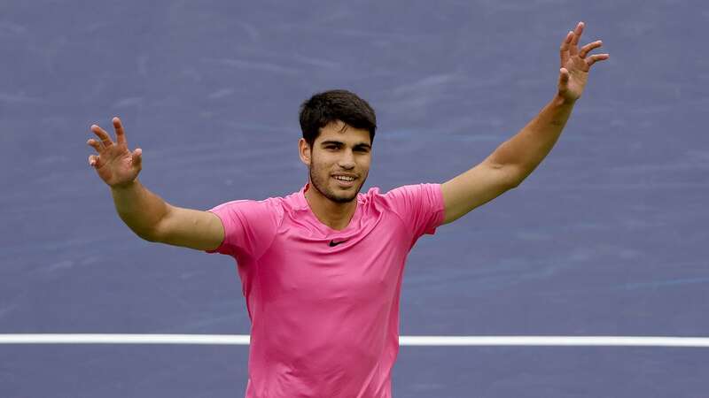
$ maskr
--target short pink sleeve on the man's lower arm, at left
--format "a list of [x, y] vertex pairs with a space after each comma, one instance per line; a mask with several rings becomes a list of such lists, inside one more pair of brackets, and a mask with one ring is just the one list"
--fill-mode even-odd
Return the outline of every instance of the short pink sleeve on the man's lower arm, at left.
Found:
[[269, 249], [283, 218], [283, 208], [273, 198], [263, 201], [238, 200], [207, 210], [222, 219], [224, 241], [206, 253], [258, 259]]

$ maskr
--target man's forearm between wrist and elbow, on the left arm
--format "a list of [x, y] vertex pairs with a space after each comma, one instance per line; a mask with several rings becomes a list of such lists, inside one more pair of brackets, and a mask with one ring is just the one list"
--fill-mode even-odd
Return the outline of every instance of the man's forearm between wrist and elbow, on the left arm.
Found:
[[168, 203], [135, 180], [124, 188], [111, 188], [119, 217], [138, 236], [151, 240], [152, 232], [168, 211]]

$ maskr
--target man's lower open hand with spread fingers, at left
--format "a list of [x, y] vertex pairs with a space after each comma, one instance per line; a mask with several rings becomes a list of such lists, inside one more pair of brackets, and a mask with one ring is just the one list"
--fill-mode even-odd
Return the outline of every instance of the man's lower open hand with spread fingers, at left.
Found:
[[86, 143], [98, 152], [98, 155], [89, 156], [89, 165], [96, 168], [98, 176], [110, 187], [121, 188], [136, 180], [142, 168], [143, 150], [138, 148], [132, 153], [129, 151], [121, 119], [113, 118], [113, 129], [116, 132], [116, 142], [111, 141], [111, 136], [103, 128], [91, 125], [91, 131], [101, 141], [92, 138]]

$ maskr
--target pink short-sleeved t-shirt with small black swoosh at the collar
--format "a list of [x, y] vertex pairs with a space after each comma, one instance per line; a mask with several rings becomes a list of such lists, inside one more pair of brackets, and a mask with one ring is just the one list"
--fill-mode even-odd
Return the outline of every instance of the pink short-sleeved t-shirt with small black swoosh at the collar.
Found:
[[325, 226], [304, 192], [222, 203], [251, 318], [246, 398], [389, 398], [404, 262], [443, 222], [440, 184], [357, 195], [349, 225]]

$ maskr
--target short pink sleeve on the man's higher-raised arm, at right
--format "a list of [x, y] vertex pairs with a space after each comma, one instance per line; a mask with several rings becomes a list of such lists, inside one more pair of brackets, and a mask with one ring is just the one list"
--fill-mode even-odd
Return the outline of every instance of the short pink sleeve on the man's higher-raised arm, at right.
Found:
[[445, 217], [440, 184], [405, 185], [387, 192], [386, 197], [413, 233], [414, 241], [424, 233], [436, 233]]

